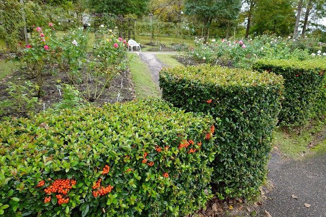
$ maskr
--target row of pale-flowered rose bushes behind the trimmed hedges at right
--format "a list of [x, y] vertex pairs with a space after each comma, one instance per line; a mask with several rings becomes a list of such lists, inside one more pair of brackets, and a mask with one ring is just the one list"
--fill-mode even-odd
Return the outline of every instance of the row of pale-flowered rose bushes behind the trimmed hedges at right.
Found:
[[[232, 61], [237, 68], [250, 68], [250, 65], [263, 57], [275, 59], [311, 59], [310, 49], [318, 44], [312, 39], [302, 38], [293, 41], [290, 38], [259, 36], [254, 39], [225, 40], [204, 38], [195, 39], [195, 47], [189, 47], [186, 55], [196, 60], [205, 60], [215, 65], [218, 61]], [[205, 57], [205, 58], [204, 58]]]

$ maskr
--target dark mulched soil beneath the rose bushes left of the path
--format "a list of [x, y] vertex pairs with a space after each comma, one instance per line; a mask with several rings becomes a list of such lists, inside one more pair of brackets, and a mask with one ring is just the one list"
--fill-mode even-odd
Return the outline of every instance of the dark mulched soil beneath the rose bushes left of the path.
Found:
[[[92, 82], [88, 81], [88, 85], [92, 86], [92, 91], [94, 91], [95, 84], [93, 79], [94, 78], [92, 78]], [[23, 85], [27, 80], [30, 80], [32, 83], [36, 82], [35, 78], [21, 71], [16, 71], [13, 74], [10, 74], [5, 78], [1, 79], [0, 101], [10, 99], [10, 95], [6, 90], [9, 87], [8, 82], [12, 82], [17, 85]], [[66, 77], [64, 72], [57, 72], [55, 76], [53, 76], [51, 73], [48, 73], [44, 80], [44, 86], [42, 87], [42, 89], [45, 91], [45, 95], [38, 99], [38, 103], [35, 104], [33, 112], [38, 113], [40, 111], [43, 111], [43, 102], [45, 103], [46, 109], [53, 107], [55, 103], [62, 101], [63, 97], [60, 96], [59, 91], [57, 90], [57, 80], [61, 80], [61, 83], [69, 84], [69, 79]], [[79, 84], [79, 86], [81, 92], [85, 92], [87, 90], [87, 85], [85, 83], [81, 83]], [[61, 90], [61, 94], [64, 94], [63, 90]], [[99, 97], [93, 103], [98, 106], [101, 106], [104, 103], [115, 103], [117, 102], [118, 95], [119, 102], [132, 101], [136, 98], [134, 86], [132, 84], [132, 75], [130, 73], [129, 68], [127, 68], [126, 71], [122, 71], [115, 75], [112, 80], [111, 86], [109, 88], [106, 88], [101, 97]], [[24, 117], [26, 115], [17, 112], [12, 107], [2, 107], [0, 110], [0, 120], [7, 116]]]

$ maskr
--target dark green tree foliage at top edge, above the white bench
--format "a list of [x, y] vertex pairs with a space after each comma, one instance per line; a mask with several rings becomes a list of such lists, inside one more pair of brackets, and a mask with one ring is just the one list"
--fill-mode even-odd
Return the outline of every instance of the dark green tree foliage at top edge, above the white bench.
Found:
[[88, 7], [95, 13], [135, 14], [147, 12], [149, 0], [88, 0]]

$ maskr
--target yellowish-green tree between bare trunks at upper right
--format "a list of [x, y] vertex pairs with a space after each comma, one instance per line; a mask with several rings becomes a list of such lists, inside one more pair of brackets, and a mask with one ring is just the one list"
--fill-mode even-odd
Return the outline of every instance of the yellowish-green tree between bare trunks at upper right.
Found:
[[259, 0], [253, 15], [250, 32], [257, 34], [289, 35], [294, 28], [292, 1]]

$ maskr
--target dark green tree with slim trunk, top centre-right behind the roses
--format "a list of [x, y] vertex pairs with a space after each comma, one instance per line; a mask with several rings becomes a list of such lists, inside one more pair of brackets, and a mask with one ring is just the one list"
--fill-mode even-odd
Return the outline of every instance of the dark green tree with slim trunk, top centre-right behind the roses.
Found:
[[185, 13], [193, 15], [204, 22], [208, 31], [206, 36], [209, 37], [209, 29], [213, 20], [224, 22], [229, 25], [235, 20], [241, 9], [241, 0], [186, 0]]

